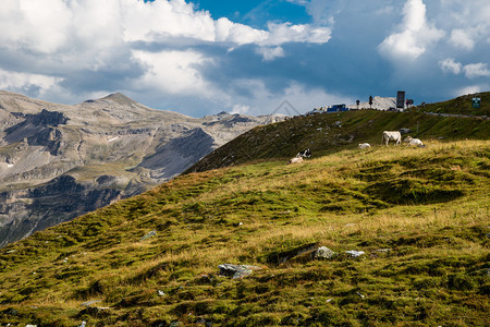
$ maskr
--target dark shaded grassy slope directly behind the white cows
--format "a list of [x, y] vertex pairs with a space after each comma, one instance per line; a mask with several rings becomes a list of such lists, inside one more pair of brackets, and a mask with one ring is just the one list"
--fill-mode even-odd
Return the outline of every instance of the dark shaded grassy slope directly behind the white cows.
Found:
[[291, 158], [307, 147], [311, 148], [314, 155], [322, 156], [342, 149], [353, 149], [365, 142], [380, 145], [383, 131], [400, 129], [409, 129], [409, 135], [420, 137], [428, 144], [440, 138], [490, 138], [490, 120], [378, 110], [323, 113], [257, 126], [209, 154], [187, 172], [257, 159]]

